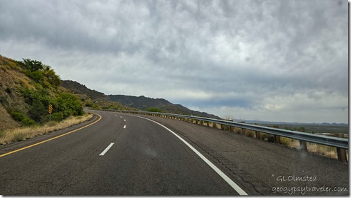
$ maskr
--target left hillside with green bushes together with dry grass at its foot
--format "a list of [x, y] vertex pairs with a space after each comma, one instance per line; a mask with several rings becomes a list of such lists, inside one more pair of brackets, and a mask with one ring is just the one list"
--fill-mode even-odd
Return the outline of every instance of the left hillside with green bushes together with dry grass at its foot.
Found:
[[[81, 100], [61, 83], [51, 66], [37, 60], [16, 61], [0, 55], [0, 145], [92, 118], [92, 114], [83, 111]], [[53, 107], [50, 112], [49, 105]]]

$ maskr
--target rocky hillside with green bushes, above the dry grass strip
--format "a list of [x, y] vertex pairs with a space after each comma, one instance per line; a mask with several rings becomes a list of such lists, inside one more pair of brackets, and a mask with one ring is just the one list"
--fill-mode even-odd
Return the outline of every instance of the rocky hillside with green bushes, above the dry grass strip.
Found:
[[82, 115], [80, 100], [60, 84], [60, 76], [42, 62], [0, 55], [0, 132], [46, 123], [50, 104], [52, 120]]

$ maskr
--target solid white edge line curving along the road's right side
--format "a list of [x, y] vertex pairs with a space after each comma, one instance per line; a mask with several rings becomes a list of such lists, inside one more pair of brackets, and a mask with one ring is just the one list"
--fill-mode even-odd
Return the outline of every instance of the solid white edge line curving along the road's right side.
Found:
[[[133, 115], [134, 116], [134, 115]], [[139, 118], [144, 118], [141, 116], [136, 116]], [[219, 168], [216, 167], [216, 165], [214, 165], [211, 161], [209, 161], [205, 156], [203, 156], [203, 154], [200, 154], [200, 152], [198, 152], [198, 150], [196, 150], [192, 145], [190, 145], [189, 143], [187, 143], [187, 141], [185, 141], [183, 138], [181, 138], [180, 136], [178, 136], [178, 134], [176, 134], [175, 132], [173, 132], [171, 129], [165, 127], [164, 125], [157, 123], [154, 120], [148, 119], [148, 118], [144, 118], [146, 120], [150, 120], [154, 123], [156, 123], [157, 125], [160, 125], [162, 127], [164, 127], [165, 129], [167, 129], [169, 132], [171, 132], [173, 135], [175, 135], [177, 138], [180, 139], [180, 141], [182, 141], [183, 143], [185, 143], [185, 145], [187, 145], [192, 151], [194, 151], [198, 156], [200, 156], [200, 159], [203, 159], [203, 161], [205, 161], [205, 163], [207, 163], [207, 165], [209, 165], [209, 167], [211, 167], [214, 171], [216, 171], [217, 174], [219, 174], [219, 176], [221, 176], [230, 186], [232, 186], [232, 188], [237, 191], [239, 193], [239, 195], [248, 195], [245, 191], [243, 191], [243, 189], [241, 189], [237, 183], [235, 183], [234, 181], [232, 181], [232, 179], [230, 179], [226, 174], [224, 174]]]

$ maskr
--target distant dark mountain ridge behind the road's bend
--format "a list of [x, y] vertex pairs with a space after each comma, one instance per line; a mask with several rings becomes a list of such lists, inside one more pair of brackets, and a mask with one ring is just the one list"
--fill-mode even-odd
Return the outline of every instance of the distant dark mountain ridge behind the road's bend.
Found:
[[168, 100], [163, 98], [148, 98], [145, 96], [125, 96], [125, 95], [108, 95], [99, 91], [95, 91], [87, 88], [84, 84], [75, 82], [73, 80], [62, 80], [62, 87], [71, 90], [77, 95], [83, 97], [89, 97], [93, 101], [99, 102], [118, 102], [123, 106], [140, 109], [146, 111], [149, 108], [157, 108], [165, 113], [170, 114], [184, 114], [184, 115], [193, 115], [206, 118], [216, 118], [221, 119], [219, 116], [213, 114], [207, 114], [206, 112], [194, 111], [183, 107], [182, 105], [175, 105]]

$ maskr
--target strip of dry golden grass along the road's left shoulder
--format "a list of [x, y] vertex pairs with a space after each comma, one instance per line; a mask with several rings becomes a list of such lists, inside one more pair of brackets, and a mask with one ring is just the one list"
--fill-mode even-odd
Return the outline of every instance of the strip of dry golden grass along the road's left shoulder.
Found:
[[70, 116], [60, 123], [49, 122], [44, 126], [39, 127], [19, 127], [15, 129], [8, 129], [4, 132], [0, 132], [0, 145], [6, 145], [9, 143], [14, 143], [17, 141], [24, 141], [35, 136], [40, 136], [47, 134], [49, 132], [54, 132], [60, 129], [65, 129], [72, 125], [77, 125], [83, 123], [86, 120], [92, 118], [93, 114], [85, 114], [84, 116]]

